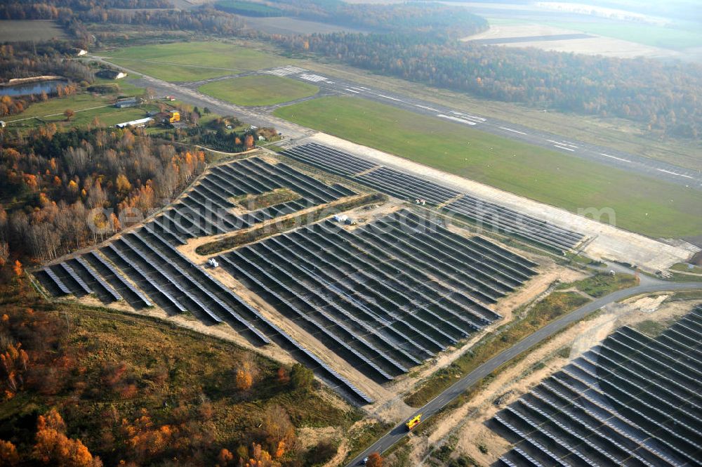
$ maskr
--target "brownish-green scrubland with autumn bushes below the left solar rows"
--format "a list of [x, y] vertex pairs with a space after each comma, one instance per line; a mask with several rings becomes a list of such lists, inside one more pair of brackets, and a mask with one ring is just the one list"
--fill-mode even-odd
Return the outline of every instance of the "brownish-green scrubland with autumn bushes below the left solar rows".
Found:
[[[49, 303], [26, 277], [22, 287], [13, 282], [0, 282], [3, 352], [21, 343], [30, 358], [16, 371], [18, 389], [6, 393], [2, 381], [0, 439], [20, 452], [31, 452], [37, 417], [52, 407], [67, 434], [105, 465], [139, 456], [154, 465], [173, 456], [214, 465], [221, 448], [236, 452], [256, 440], [270, 407], [282, 407], [296, 428], [348, 427], [360, 419], [329, 390], [295, 389], [280, 378], [279, 362], [233, 343], [156, 318]], [[237, 383], [242, 368], [253, 375], [250, 389]], [[141, 428], [134, 433], [132, 425]], [[147, 453], [134, 447], [147, 440]]]

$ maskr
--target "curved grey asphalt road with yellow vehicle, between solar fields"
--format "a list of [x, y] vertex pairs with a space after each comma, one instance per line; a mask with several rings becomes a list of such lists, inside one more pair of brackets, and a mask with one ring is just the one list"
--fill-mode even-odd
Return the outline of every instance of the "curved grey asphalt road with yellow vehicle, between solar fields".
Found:
[[[439, 412], [439, 410], [441, 410], [447, 404], [449, 404], [449, 402], [458, 397], [458, 395], [465, 393], [465, 391], [468, 390], [468, 388], [470, 388], [475, 383], [483, 379], [485, 376], [491, 374], [491, 372], [497, 369], [501, 364], [512, 360], [512, 358], [517, 357], [517, 355], [536, 346], [536, 344], [540, 343], [546, 338], [549, 338], [553, 334], [556, 334], [558, 331], [564, 329], [569, 324], [583, 319], [583, 317], [585, 317], [589, 313], [592, 313], [595, 310], [599, 310], [604, 305], [609, 305], [609, 303], [622, 300], [623, 298], [640, 294], [702, 289], [702, 282], [663, 282], [661, 280], [651, 279], [650, 277], [646, 276], [642, 276], [641, 279], [642, 283], [637, 287], [619, 290], [604, 297], [597, 298], [595, 301], [591, 301], [590, 303], [583, 305], [581, 308], [578, 308], [577, 310], [574, 310], [571, 313], [560, 317], [558, 320], [547, 324], [546, 326], [536, 331], [534, 334], [531, 334], [530, 336], [524, 338], [522, 341], [516, 343], [515, 346], [512, 346], [507, 350], [503, 350], [502, 353], [498, 353], [498, 355], [495, 355], [490, 360], [480, 365], [475, 370], [471, 371], [468, 375], [464, 376], [463, 379], [454, 383], [453, 386], [444, 390], [443, 393], [437, 395], [437, 397], [430, 400], [430, 402], [428, 402], [424, 407], [418, 409], [411, 416], [415, 416], [416, 414], [422, 414], [423, 419], [426, 419], [429, 416], [436, 414], [437, 412]], [[404, 426], [404, 423], [405, 421], [402, 421], [402, 423], [399, 423], [397, 426], [395, 426], [395, 428], [392, 428], [392, 430], [386, 433], [383, 436], [383, 438], [380, 438], [371, 447], [369, 447], [364, 452], [356, 456], [355, 459], [347, 463], [347, 466], [358, 466], [363, 462], [363, 459], [366, 456], [369, 456], [369, 454], [371, 454], [371, 452], [379, 452], [382, 454], [383, 452], [388, 450], [388, 448], [390, 448], [396, 442], [401, 440], [405, 435], [407, 435], [407, 430]]]

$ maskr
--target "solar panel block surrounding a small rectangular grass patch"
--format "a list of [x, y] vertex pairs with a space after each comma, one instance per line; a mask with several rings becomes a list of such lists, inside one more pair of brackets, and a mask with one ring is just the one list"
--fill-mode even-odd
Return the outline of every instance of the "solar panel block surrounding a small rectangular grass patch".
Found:
[[[241, 206], [232, 197], [260, 195], [288, 188], [299, 199], [236, 215], [232, 208]], [[154, 230], [171, 242], [185, 244], [188, 238], [231, 232], [310, 206], [325, 204], [355, 195], [341, 185], [324, 183], [286, 164], [269, 164], [249, 157], [214, 166], [197, 185], [154, 221]]]

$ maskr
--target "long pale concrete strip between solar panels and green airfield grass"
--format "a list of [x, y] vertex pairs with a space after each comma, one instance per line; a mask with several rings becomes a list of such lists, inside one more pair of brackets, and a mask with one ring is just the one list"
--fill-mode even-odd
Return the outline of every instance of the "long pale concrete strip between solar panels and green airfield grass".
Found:
[[541, 218], [559, 227], [583, 232], [585, 235], [593, 238], [585, 247], [585, 251], [583, 251], [590, 258], [610, 258], [616, 261], [635, 263], [644, 270], [655, 272], [656, 270], [669, 268], [675, 263], [687, 261], [687, 258], [699, 250], [691, 244], [678, 244], [675, 246], [666, 244], [659, 240], [616, 228], [613, 225], [578, 216], [576, 213], [571, 213], [555, 206], [519, 197], [467, 178], [411, 162], [387, 152], [357, 145], [335, 136], [316, 133], [308, 139], [357, 154], [359, 157], [377, 164], [383, 164], [391, 169], [416, 174], [422, 178], [440, 183], [447, 188], [467, 192], [486, 201], [495, 202], [529, 216]]

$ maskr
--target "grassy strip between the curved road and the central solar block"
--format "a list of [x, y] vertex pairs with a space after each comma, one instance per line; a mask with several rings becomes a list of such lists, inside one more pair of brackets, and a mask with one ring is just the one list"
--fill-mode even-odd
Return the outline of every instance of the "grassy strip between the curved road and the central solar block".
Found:
[[[596, 296], [602, 296], [604, 291], [610, 293], [632, 287], [633, 285], [635, 285], [633, 276], [620, 274], [616, 277], [595, 275], [578, 282], [564, 284], [564, 287], [575, 287], [580, 291], [592, 291], [597, 294]], [[512, 322], [503, 324], [494, 332], [486, 334], [475, 346], [472, 346], [470, 350], [458, 357], [448, 367], [439, 369], [429, 376], [428, 379], [419, 384], [413, 393], [404, 397], [404, 402], [411, 405], [411, 407], [422, 407], [459, 378], [470, 373], [470, 371], [473, 371], [498, 353], [514, 346], [517, 342], [533, 334], [546, 324], [563, 315], [567, 315], [567, 313], [585, 305], [589, 301], [590, 298], [574, 291], [552, 292], [542, 301], [529, 308], [524, 315], [517, 317]], [[515, 315], [517, 312], [515, 312]]]

